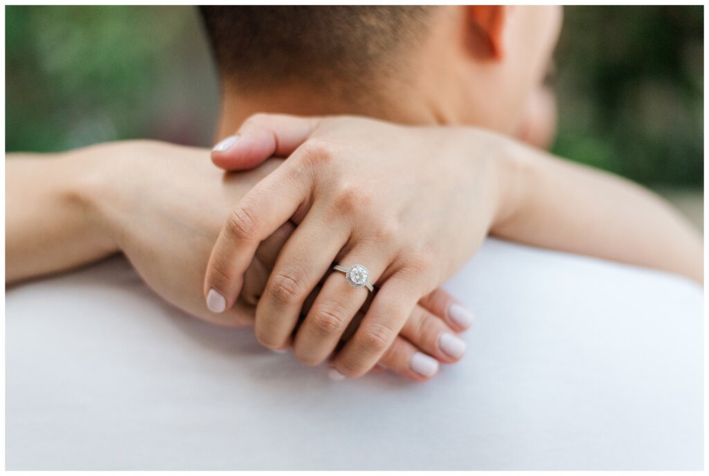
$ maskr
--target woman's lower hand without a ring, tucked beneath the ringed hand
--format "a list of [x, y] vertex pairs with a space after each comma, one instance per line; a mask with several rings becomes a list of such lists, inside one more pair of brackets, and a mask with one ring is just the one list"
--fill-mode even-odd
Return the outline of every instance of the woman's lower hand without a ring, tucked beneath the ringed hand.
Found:
[[[255, 305], [294, 230], [291, 222], [286, 220], [258, 246], [247, 265], [242, 293], [228, 311], [213, 313], [203, 306], [201, 283], [233, 203], [281, 160], [269, 160], [240, 174], [223, 174], [206, 160], [206, 150], [162, 142], [115, 143], [74, 154], [88, 159], [82, 160], [90, 173], [82, 179], [80, 195], [94, 210], [94, 228], [106, 237], [104, 241], [123, 251], [153, 290], [208, 322], [231, 327], [253, 324]], [[81, 174], [78, 167], [77, 174]], [[310, 302], [316, 293], [318, 288]], [[435, 290], [413, 307], [403, 337], [393, 341], [379, 363], [411, 380], [428, 380], [439, 362], [460, 358], [463, 348], [456, 346], [453, 336], [470, 324], [469, 314], [450, 295]]]

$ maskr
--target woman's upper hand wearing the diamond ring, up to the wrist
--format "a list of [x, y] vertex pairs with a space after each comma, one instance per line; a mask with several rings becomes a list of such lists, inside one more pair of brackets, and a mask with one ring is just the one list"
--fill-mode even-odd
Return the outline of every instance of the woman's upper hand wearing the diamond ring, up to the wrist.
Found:
[[[259, 243], [284, 222], [298, 223], [257, 305], [256, 334], [270, 348], [291, 344], [303, 302], [333, 263], [367, 266], [379, 292], [359, 329], [337, 353], [334, 371], [367, 372], [416, 302], [469, 260], [493, 223], [502, 161], [499, 141], [470, 130], [411, 128], [364, 118], [256, 115], [213, 161], [247, 169], [289, 157], [230, 213], [212, 251], [205, 296], [236, 302]], [[469, 151], [485, 150], [485, 154]], [[367, 298], [342, 273], [326, 278], [293, 345], [321, 363]]]

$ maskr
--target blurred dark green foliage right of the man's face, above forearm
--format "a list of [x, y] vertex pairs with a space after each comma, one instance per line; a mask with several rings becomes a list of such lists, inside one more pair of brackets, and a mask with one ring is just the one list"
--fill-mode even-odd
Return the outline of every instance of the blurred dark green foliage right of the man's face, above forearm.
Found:
[[554, 152], [651, 186], [701, 187], [703, 16], [703, 6], [566, 7]]

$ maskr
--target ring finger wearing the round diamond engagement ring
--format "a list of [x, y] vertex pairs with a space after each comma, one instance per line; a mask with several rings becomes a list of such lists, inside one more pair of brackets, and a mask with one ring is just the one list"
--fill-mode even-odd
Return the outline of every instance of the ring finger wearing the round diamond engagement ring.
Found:
[[[340, 265], [347, 268], [367, 261], [380, 263], [367, 270], [368, 280], [376, 282], [388, 263], [387, 256], [376, 253], [376, 249], [353, 249], [342, 258]], [[296, 334], [294, 353], [298, 360], [307, 365], [324, 362], [342, 338], [352, 317], [367, 300], [368, 294], [366, 287], [353, 288], [348, 284], [345, 273], [337, 271], [330, 274]]]

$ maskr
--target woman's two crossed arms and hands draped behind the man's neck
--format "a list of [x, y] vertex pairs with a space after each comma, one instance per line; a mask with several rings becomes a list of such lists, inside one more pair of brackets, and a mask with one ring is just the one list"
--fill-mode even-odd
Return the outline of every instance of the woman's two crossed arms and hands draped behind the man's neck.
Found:
[[[255, 324], [259, 341], [293, 346], [308, 364], [344, 336], [336, 375], [379, 361], [426, 380], [437, 367], [419, 356], [413, 369], [413, 356], [456, 361], [442, 336], [470, 324], [437, 286], [488, 233], [702, 279], [698, 234], [652, 193], [472, 128], [257, 115], [213, 160], [242, 171], [157, 142], [11, 154], [6, 283], [120, 251], [164, 299], [218, 324]], [[354, 185], [364, 193], [353, 200]], [[360, 261], [373, 300], [323, 274]], [[206, 307], [211, 289], [224, 312]]]

